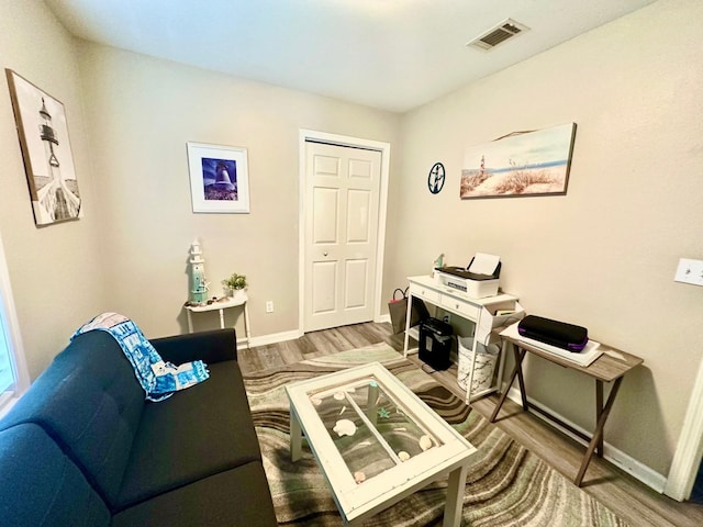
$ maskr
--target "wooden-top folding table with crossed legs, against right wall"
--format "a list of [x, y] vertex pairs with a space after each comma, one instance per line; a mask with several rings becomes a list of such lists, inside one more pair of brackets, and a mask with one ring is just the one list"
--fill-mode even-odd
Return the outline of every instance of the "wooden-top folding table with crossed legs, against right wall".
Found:
[[[605, 422], [607, 421], [607, 416], [613, 408], [613, 403], [615, 402], [615, 396], [617, 395], [617, 391], [620, 390], [620, 385], [623, 382], [623, 378], [625, 373], [629, 370], [639, 366], [644, 362], [643, 359], [636, 357], [634, 355], [626, 354], [615, 348], [611, 348], [610, 346], [600, 345], [600, 348], [603, 351], [595, 361], [593, 361], [588, 367], [579, 366], [570, 360], [562, 359], [561, 357], [550, 354], [548, 351], [544, 351], [543, 349], [531, 345], [520, 338], [514, 338], [510, 336], [502, 335], [504, 341], [512, 345], [513, 352], [515, 355], [515, 367], [513, 368], [513, 372], [510, 375], [510, 380], [507, 381], [507, 386], [503, 390], [495, 408], [493, 410], [493, 414], [489, 419], [491, 423], [495, 422], [498, 417], [498, 413], [501, 410], [501, 406], [505, 402], [505, 397], [507, 396], [507, 391], [510, 386], [517, 378], [517, 382], [520, 385], [520, 395], [522, 397], [523, 408], [528, 411], [531, 407], [536, 412], [540, 413], [548, 419], [563, 428], [568, 429], [570, 433], [579, 436], [583, 440], [589, 440], [589, 446], [585, 450], [585, 455], [583, 456], [583, 460], [581, 461], [581, 468], [577, 473], [573, 483], [577, 486], [581, 486], [581, 481], [583, 481], [583, 475], [585, 474], [585, 469], [588, 469], [589, 463], [591, 462], [591, 458], [593, 457], [593, 452], [595, 451], [599, 457], [603, 457], [603, 427], [605, 426]], [[589, 375], [595, 379], [595, 429], [593, 430], [592, 436], [588, 436], [580, 430], [577, 430], [572, 426], [563, 423], [561, 419], [556, 416], [549, 414], [548, 412], [535, 406], [531, 405], [527, 402], [527, 394], [525, 392], [525, 380], [523, 377], [523, 360], [525, 359], [525, 355], [531, 352], [537, 357], [548, 360], [549, 362], [554, 362], [556, 365], [562, 366], [565, 368], [569, 368], [571, 370], [579, 371], [585, 375]], [[621, 358], [622, 357], [622, 358]], [[603, 405], [603, 383], [613, 382], [613, 388], [607, 396], [607, 401], [605, 405]]]

